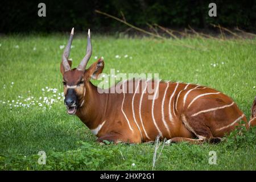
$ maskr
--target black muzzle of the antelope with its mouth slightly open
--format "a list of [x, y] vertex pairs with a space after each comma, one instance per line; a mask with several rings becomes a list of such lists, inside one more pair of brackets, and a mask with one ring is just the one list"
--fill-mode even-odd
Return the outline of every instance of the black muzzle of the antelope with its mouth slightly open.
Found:
[[68, 89], [64, 100], [68, 114], [75, 114], [77, 109], [77, 96], [75, 89]]

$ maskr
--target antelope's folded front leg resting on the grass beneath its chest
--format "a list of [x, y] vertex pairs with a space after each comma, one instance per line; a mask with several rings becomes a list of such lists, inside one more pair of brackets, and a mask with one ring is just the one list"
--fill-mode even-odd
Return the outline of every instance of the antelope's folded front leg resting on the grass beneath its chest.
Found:
[[97, 139], [97, 142], [103, 142], [104, 140], [108, 140], [109, 142], [114, 142], [114, 143], [137, 143], [133, 141], [132, 139], [129, 138], [127, 135], [122, 135], [120, 133], [106, 133], [105, 135], [99, 137]]

